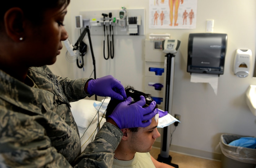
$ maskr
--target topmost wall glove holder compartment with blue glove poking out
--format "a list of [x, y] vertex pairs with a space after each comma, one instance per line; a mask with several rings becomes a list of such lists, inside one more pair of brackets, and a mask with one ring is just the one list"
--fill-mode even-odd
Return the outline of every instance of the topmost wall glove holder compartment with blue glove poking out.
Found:
[[164, 77], [163, 62], [145, 62], [145, 76]]

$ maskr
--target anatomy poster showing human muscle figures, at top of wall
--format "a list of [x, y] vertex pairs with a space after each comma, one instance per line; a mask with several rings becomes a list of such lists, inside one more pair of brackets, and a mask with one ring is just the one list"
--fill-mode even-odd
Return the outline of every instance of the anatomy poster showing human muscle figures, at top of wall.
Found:
[[150, 29], [195, 29], [197, 0], [149, 0]]

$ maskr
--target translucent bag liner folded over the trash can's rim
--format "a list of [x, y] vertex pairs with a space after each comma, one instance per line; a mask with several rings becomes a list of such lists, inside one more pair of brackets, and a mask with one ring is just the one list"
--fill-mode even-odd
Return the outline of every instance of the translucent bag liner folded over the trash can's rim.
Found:
[[256, 149], [245, 148], [240, 146], [231, 146], [229, 143], [236, 139], [240, 139], [242, 135], [222, 134], [220, 137], [220, 148], [223, 155], [233, 160], [256, 164]]

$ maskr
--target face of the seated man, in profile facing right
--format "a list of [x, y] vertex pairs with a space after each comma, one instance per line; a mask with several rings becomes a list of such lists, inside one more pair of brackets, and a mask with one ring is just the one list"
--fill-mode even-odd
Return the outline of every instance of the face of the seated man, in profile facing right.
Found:
[[133, 152], [149, 152], [155, 139], [160, 136], [158, 130], [156, 129], [158, 121], [155, 121], [153, 117], [152, 122], [149, 126], [143, 128], [139, 127], [137, 132], [130, 132], [129, 136], [129, 149]]

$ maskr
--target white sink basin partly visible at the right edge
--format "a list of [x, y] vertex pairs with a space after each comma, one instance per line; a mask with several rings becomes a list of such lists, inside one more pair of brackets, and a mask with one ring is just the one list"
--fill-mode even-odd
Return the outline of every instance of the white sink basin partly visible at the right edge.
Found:
[[248, 87], [245, 99], [251, 112], [256, 116], [256, 85], [250, 85]]

